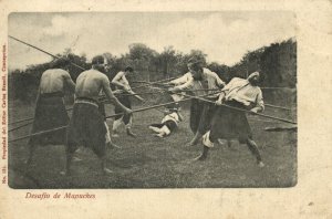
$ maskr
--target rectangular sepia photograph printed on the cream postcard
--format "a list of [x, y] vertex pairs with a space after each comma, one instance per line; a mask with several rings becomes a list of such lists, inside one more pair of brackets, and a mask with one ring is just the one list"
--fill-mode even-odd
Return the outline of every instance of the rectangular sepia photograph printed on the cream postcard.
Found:
[[12, 189], [298, 184], [292, 11], [11, 12]]

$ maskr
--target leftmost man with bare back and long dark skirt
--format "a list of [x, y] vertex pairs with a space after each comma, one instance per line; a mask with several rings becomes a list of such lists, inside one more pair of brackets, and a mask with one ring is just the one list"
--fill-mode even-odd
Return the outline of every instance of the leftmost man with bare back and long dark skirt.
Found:
[[[73, 92], [75, 84], [66, 69], [70, 64], [68, 59], [58, 59], [51, 63], [51, 69], [42, 73], [40, 86], [37, 94], [34, 121], [31, 134], [48, 131], [61, 126], [66, 126], [69, 116], [64, 106], [64, 91], [68, 88]], [[65, 144], [65, 129], [52, 133], [32, 136], [29, 139], [29, 158], [27, 164], [30, 165], [32, 156], [38, 145], [61, 145]]]

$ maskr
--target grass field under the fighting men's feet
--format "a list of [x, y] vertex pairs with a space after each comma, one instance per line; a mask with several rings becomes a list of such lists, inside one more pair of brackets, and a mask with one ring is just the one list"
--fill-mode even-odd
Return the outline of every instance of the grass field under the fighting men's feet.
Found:
[[[33, 106], [11, 103], [10, 122], [33, 115]], [[264, 112], [291, 118], [283, 111]], [[107, 106], [107, 114], [113, 114]], [[260, 168], [246, 145], [237, 142], [228, 148], [216, 144], [206, 161], [193, 161], [201, 145], [186, 147], [193, 134], [188, 124], [188, 111], [184, 109], [185, 122], [177, 132], [166, 138], [152, 136], [148, 124], [162, 119], [162, 113], [146, 111], [134, 115], [132, 138], [122, 128], [121, 137], [113, 142], [122, 149], [107, 150], [107, 166], [114, 173], [104, 176], [98, 159], [89, 148], [81, 148], [73, 163], [72, 176], [61, 176], [65, 165], [64, 146], [39, 147], [32, 165], [28, 168], [27, 139], [9, 144], [9, 185], [12, 188], [221, 188], [221, 187], [290, 187], [297, 184], [297, 133], [264, 132], [276, 126], [270, 119], [249, 116], [255, 139], [258, 143], [266, 167]], [[112, 119], [108, 121], [112, 127]], [[9, 138], [28, 135], [31, 126], [10, 133]]]

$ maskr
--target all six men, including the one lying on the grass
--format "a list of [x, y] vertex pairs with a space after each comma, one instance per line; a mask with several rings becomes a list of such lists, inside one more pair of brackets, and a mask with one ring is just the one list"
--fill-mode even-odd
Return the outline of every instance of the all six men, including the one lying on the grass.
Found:
[[[116, 117], [113, 123], [112, 136], [118, 136], [118, 127], [121, 124], [125, 124], [127, 135], [135, 137], [136, 135], [131, 129], [133, 111], [128, 95], [121, 95], [118, 98], [114, 95], [114, 93], [127, 93], [144, 101], [132, 91], [126, 79], [126, 75], [134, 70], [127, 66], [110, 82], [105, 74], [108, 70], [107, 61], [104, 56], [98, 55], [92, 60], [92, 69], [82, 72], [74, 83], [69, 72], [63, 70], [69, 64], [69, 60], [55, 60], [53, 66], [42, 74], [32, 133], [61, 126], [68, 127], [32, 136], [29, 140], [28, 164], [31, 163], [37, 145], [64, 144], [66, 166], [62, 174], [69, 175], [73, 154], [79, 146], [86, 146], [91, 147], [100, 158], [102, 170], [111, 173], [105, 165], [105, 152], [107, 146], [116, 147], [116, 145], [111, 140], [105, 108], [100, 96], [103, 93], [115, 105]], [[187, 90], [191, 91], [190, 129], [194, 138], [189, 145], [196, 145], [203, 139], [203, 153], [195, 160], [205, 160], [209, 148], [214, 147], [216, 140], [237, 138], [240, 143], [248, 145], [256, 156], [258, 165], [262, 167], [261, 155], [252, 139], [252, 133], [243, 111], [250, 109], [258, 113], [264, 108], [262, 93], [258, 87], [259, 73], [255, 72], [248, 79], [235, 77], [226, 84], [215, 72], [203, 67], [201, 63], [195, 59], [189, 60], [187, 66], [188, 73], [168, 82], [167, 85], [173, 86], [169, 91], [175, 94]], [[116, 86], [114, 93], [110, 84]], [[75, 96], [71, 118], [64, 107], [65, 88], [74, 92]], [[209, 102], [197, 96], [204, 96]], [[174, 122], [172, 115], [168, 118]], [[163, 137], [169, 134], [174, 124], [165, 121], [159, 126], [151, 128], [157, 132], [159, 137]]]

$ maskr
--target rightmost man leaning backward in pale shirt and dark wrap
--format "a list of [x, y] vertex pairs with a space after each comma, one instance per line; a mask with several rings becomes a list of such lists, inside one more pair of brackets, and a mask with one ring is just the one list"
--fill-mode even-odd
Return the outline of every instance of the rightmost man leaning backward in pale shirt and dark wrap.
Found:
[[247, 80], [235, 77], [221, 91], [216, 104], [218, 109], [211, 121], [210, 131], [203, 136], [203, 153], [197, 160], [205, 160], [210, 147], [218, 139], [234, 139], [237, 138], [239, 143], [246, 143], [250, 152], [256, 156], [257, 163], [260, 167], [264, 164], [261, 160], [261, 155], [257, 144], [252, 139], [251, 128], [249, 126], [246, 113], [229, 108], [225, 105], [250, 109], [252, 113], [262, 112], [264, 103], [262, 100], [262, 92], [258, 86], [260, 80], [259, 72], [251, 73]]

